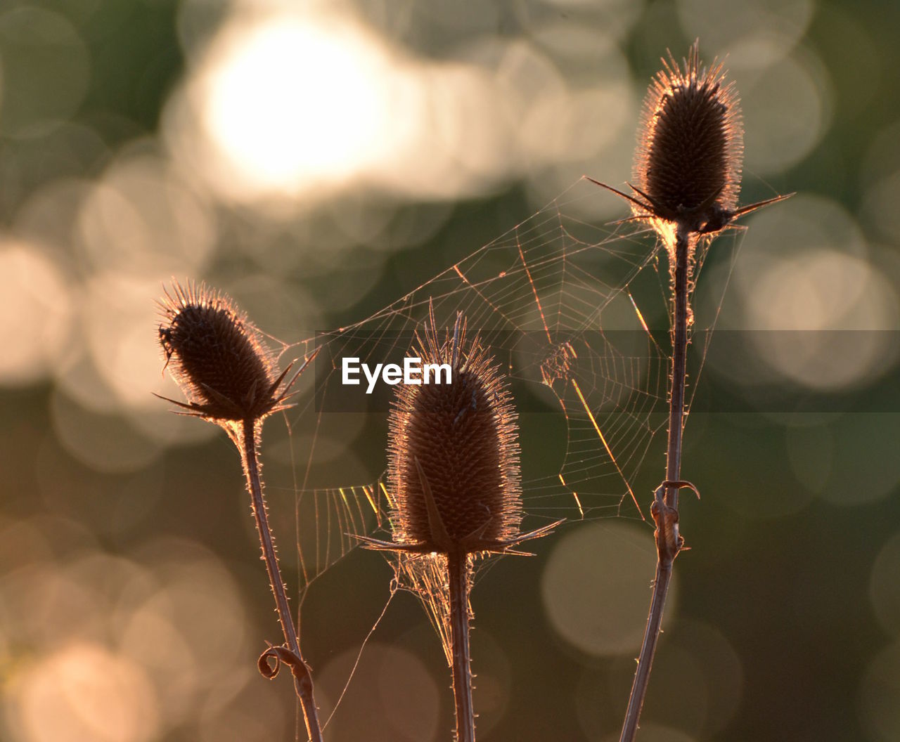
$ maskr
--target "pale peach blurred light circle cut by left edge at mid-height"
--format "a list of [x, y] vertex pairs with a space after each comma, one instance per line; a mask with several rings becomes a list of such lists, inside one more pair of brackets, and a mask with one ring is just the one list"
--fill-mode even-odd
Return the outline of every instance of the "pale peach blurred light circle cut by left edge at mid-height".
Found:
[[68, 282], [39, 250], [0, 239], [0, 384], [40, 380], [70, 341]]

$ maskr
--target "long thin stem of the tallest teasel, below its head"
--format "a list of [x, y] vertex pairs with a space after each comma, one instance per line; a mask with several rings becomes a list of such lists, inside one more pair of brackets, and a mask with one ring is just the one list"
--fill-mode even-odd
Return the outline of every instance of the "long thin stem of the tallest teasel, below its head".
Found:
[[635, 682], [632, 684], [631, 696], [628, 699], [625, 723], [619, 742], [632, 742], [637, 734], [641, 709], [650, 682], [650, 670], [653, 666], [653, 655], [660, 638], [662, 611], [666, 604], [666, 594], [672, 576], [672, 562], [681, 548], [681, 537], [678, 527], [678, 486], [669, 485], [680, 478], [681, 469], [681, 431], [684, 424], [684, 387], [686, 362], [688, 355], [688, 258], [689, 232], [679, 227], [675, 237], [675, 277], [674, 307], [672, 311], [672, 375], [671, 396], [669, 399], [669, 447], [666, 458], [666, 483], [664, 496], [657, 496], [653, 502], [653, 520], [656, 523], [656, 577], [653, 579], [653, 597], [650, 602], [650, 613], [644, 629], [644, 642], [641, 654], [637, 659]]

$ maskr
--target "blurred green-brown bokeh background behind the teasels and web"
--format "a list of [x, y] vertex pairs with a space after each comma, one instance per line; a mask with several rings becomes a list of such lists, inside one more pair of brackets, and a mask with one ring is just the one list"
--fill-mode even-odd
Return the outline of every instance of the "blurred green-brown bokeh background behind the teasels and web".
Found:
[[[697, 37], [743, 100], [742, 201], [797, 196], [747, 219], [724, 299], [728, 261], [698, 288], [732, 342], [699, 393], [729, 402], [689, 420], [703, 499], [639, 738], [900, 738], [898, 33], [877, 2], [4, 0], [0, 738], [294, 738], [291, 684], [254, 665], [278, 629], [238, 457], [151, 396], [178, 398], [163, 283], [228, 291], [286, 346], [367, 317], [582, 174], [624, 183], [647, 82]], [[342, 419], [334, 484], [371, 481]], [[295, 597], [302, 472], [269, 490]], [[480, 737], [615, 739], [652, 527], [536, 551], [473, 593]], [[336, 742], [451, 737], [412, 596], [359, 655], [391, 577], [353, 550], [303, 595], [326, 716], [360, 657]]]

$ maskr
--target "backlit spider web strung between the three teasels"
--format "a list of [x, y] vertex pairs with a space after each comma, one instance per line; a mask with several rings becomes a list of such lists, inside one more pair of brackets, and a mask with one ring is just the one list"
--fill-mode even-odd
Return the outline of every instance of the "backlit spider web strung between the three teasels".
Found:
[[[296, 355], [320, 350], [315, 374], [301, 380], [302, 389], [311, 393], [301, 396], [287, 416], [301, 598], [317, 577], [359, 545], [357, 536], [391, 539], [391, 493], [384, 477], [386, 407], [368, 415], [374, 424], [356, 446], [371, 479], [311, 486], [328, 478], [317, 459], [317, 443], [340, 418], [329, 412], [329, 403], [348, 393], [341, 384], [340, 359], [397, 362], [410, 354], [413, 333], [424, 326], [429, 310], [438, 331], [452, 328], [462, 313], [470, 332], [479, 333], [509, 375], [519, 410], [523, 531], [560, 518], [570, 523], [602, 517], [647, 520], [647, 504], [664, 469], [669, 274], [660, 258], [665, 251], [641, 223], [610, 226], [581, 216], [607, 197], [582, 178], [504, 235], [371, 317], [285, 347], [284, 353]], [[734, 234], [716, 241], [717, 254], [731, 255], [732, 264], [738, 245]], [[695, 280], [707, 248], [708, 240], [698, 247]], [[713, 317], [695, 317], [690, 353], [696, 371], [689, 379], [689, 405], [720, 306], [721, 298]], [[365, 398], [365, 384], [364, 378], [362, 386], [351, 388], [359, 398]], [[392, 398], [392, 388], [380, 386]], [[301, 439], [303, 445], [294, 445]], [[659, 465], [643, 467], [654, 442], [660, 443]]]

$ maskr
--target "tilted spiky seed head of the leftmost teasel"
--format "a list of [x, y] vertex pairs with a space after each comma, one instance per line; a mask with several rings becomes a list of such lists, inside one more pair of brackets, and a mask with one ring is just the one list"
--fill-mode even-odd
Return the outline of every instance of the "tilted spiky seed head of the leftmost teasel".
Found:
[[262, 337], [224, 294], [173, 283], [159, 302], [166, 367], [198, 416], [247, 421], [278, 405], [280, 379]]

